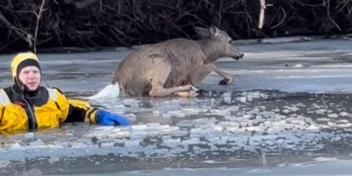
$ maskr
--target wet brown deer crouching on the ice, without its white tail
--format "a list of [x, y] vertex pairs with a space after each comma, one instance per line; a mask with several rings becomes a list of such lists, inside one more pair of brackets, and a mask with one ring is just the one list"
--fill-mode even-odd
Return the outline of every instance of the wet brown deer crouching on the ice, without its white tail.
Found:
[[125, 96], [194, 95], [195, 86], [212, 71], [228, 84], [232, 75], [220, 70], [219, 58], [243, 57], [232, 38], [217, 27], [194, 27], [200, 40], [184, 38], [156, 43], [132, 52], [115, 71], [112, 83], [118, 84]]

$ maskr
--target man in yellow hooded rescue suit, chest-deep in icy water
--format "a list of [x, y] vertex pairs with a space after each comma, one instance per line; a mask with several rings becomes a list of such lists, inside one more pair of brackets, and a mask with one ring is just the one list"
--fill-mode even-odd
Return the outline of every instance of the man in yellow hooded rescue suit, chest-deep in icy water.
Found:
[[31, 52], [15, 56], [11, 69], [13, 86], [0, 89], [0, 131], [32, 131], [75, 121], [129, 124], [123, 116], [92, 108], [85, 101], [69, 100], [57, 88], [40, 86], [42, 70]]

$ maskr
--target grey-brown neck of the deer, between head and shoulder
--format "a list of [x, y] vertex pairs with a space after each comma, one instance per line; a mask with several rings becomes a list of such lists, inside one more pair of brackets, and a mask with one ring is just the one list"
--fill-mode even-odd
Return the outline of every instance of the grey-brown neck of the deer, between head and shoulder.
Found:
[[198, 40], [198, 43], [200, 44], [204, 54], [206, 55], [205, 64], [215, 62], [220, 58], [220, 49], [217, 47], [216, 44], [214, 44], [214, 41], [212, 41], [212, 39]]

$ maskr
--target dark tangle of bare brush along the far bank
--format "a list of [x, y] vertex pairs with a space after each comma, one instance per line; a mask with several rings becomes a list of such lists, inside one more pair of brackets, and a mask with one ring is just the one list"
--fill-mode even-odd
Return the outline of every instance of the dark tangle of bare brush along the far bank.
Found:
[[195, 38], [215, 25], [235, 39], [346, 34], [352, 0], [1, 0], [0, 52]]

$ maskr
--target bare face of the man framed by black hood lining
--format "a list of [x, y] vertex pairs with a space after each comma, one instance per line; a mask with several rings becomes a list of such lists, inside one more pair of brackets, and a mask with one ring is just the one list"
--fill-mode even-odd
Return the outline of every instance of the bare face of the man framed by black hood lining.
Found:
[[21, 70], [19, 80], [25, 84], [30, 91], [37, 90], [40, 84], [40, 70], [35, 66], [27, 66]]

